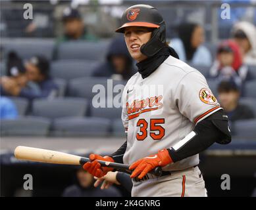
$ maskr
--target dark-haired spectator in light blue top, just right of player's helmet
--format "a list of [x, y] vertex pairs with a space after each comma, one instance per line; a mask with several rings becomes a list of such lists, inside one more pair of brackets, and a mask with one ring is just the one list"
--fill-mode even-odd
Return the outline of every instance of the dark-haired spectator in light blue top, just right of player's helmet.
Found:
[[204, 41], [205, 34], [201, 26], [184, 23], [178, 26], [178, 38], [170, 40], [170, 47], [174, 48], [180, 60], [184, 62], [211, 66], [211, 53], [201, 45]]

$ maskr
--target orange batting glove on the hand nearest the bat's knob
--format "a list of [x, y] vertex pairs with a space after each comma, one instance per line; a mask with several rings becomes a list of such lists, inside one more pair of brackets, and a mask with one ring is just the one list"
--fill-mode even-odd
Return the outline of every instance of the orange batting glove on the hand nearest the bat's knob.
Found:
[[168, 150], [159, 150], [158, 153], [153, 156], [148, 156], [132, 163], [129, 169], [134, 169], [134, 171], [130, 177], [134, 178], [139, 175], [138, 178], [142, 179], [149, 171], [155, 169], [155, 167], [165, 167], [169, 163], [172, 163], [172, 158], [170, 158]]

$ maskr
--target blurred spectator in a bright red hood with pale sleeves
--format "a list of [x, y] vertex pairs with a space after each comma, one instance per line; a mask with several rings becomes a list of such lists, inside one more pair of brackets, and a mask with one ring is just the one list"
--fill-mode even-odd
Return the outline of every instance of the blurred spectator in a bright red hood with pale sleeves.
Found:
[[224, 41], [220, 44], [217, 57], [210, 69], [209, 76], [220, 81], [232, 80], [242, 88], [247, 77], [248, 68], [242, 63], [242, 54], [234, 41]]

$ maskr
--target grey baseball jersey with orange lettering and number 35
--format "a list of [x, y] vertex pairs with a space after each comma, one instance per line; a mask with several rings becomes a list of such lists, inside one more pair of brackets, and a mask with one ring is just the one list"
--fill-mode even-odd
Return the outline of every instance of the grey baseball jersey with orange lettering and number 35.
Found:
[[[196, 123], [220, 110], [205, 77], [188, 64], [169, 56], [143, 79], [133, 75], [122, 95], [122, 121], [127, 132], [125, 164], [171, 148]], [[170, 163], [164, 171], [187, 169], [199, 163], [191, 156]]]

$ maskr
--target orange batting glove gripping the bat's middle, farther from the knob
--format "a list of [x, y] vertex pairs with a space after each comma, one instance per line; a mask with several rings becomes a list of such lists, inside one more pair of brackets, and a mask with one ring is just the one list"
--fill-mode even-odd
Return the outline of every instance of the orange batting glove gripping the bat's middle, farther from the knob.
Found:
[[91, 162], [87, 162], [83, 165], [84, 170], [88, 171], [93, 177], [104, 177], [109, 171], [113, 171], [113, 168], [109, 167], [101, 167], [101, 164], [97, 161], [103, 160], [103, 161], [109, 161], [109, 162], [115, 162], [113, 158], [109, 156], [99, 156], [97, 154], [90, 154], [89, 156]]

